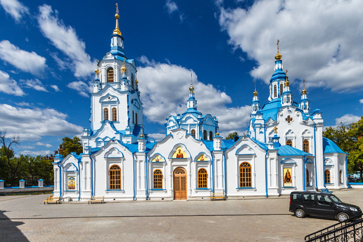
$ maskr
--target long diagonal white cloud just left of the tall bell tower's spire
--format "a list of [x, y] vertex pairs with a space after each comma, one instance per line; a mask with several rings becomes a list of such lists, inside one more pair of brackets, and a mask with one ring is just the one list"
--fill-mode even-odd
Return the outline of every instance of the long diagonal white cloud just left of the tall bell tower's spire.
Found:
[[[58, 11], [53, 11], [49, 5], [40, 6], [39, 11], [37, 18], [41, 32], [69, 58], [74, 66], [74, 76], [78, 78], [89, 76], [93, 72], [94, 63], [86, 53], [85, 42], [79, 39], [76, 30], [72, 26], [66, 26], [63, 20], [58, 18]], [[62, 63], [64, 61], [58, 61], [58, 64], [63, 65]]]

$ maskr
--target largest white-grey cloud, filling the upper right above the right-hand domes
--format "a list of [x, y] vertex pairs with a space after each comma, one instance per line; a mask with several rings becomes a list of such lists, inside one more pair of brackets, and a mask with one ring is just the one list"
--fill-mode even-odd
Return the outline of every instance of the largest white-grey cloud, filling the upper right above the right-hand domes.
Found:
[[252, 77], [269, 83], [280, 39], [290, 80], [357, 91], [363, 89], [362, 9], [362, 1], [261, 0], [247, 10], [220, 7], [219, 22], [229, 44], [256, 60]]

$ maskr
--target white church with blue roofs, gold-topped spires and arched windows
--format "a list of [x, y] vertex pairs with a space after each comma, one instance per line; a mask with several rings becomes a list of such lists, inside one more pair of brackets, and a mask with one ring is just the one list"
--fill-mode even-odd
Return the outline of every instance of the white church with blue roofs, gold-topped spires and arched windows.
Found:
[[136, 64], [126, 57], [115, 17], [111, 50], [95, 70], [83, 153], [55, 156], [54, 196], [189, 200], [211, 192], [238, 198], [348, 188], [347, 153], [323, 138], [322, 113], [310, 110], [305, 86], [295, 101], [279, 52], [269, 102], [262, 106], [253, 93], [247, 135], [223, 139], [217, 117], [197, 110], [191, 83], [185, 112], [167, 119], [163, 140], [148, 140]]

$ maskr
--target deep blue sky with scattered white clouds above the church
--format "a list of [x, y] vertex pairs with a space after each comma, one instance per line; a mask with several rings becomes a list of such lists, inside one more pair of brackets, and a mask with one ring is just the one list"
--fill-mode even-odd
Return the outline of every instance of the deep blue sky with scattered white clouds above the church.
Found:
[[[363, 108], [361, 1], [123, 1], [125, 53], [138, 66], [145, 132], [164, 135], [185, 110], [190, 72], [198, 110], [221, 134], [243, 133], [256, 81], [267, 102], [276, 42], [294, 101], [306, 79], [326, 126], [356, 122]], [[0, 0], [0, 127], [23, 154], [50, 154], [90, 127], [95, 60], [110, 50], [115, 3]], [[344, 14], [342, 14], [342, 12]]]

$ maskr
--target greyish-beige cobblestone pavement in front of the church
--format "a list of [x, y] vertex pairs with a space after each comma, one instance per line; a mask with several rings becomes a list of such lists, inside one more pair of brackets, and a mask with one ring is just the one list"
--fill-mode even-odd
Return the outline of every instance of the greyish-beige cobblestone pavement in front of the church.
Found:
[[[363, 189], [334, 192], [363, 208]], [[289, 197], [226, 201], [43, 204], [49, 194], [0, 197], [0, 241], [303, 241], [336, 223], [289, 212]]]

